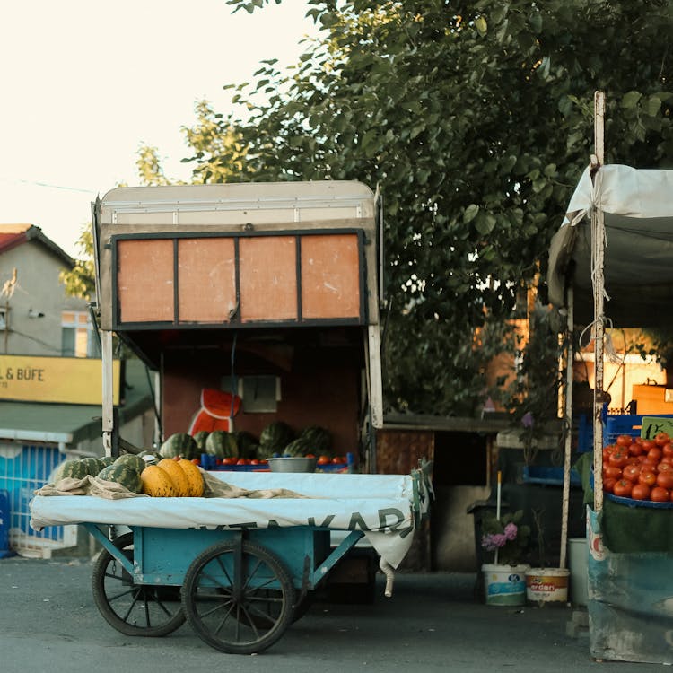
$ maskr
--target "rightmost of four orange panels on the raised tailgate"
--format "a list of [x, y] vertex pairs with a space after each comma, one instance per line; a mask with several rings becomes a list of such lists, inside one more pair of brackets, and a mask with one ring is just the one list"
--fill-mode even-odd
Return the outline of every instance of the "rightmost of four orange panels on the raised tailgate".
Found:
[[357, 235], [302, 236], [302, 318], [359, 317]]

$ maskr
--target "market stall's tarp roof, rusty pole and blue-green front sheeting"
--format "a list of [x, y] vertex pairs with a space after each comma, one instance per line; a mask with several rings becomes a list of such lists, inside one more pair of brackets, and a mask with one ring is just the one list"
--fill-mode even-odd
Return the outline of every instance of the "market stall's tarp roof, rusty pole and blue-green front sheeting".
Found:
[[599, 660], [673, 663], [673, 502], [603, 493], [600, 405], [604, 328], [673, 323], [671, 260], [673, 170], [592, 157], [552, 240], [547, 284], [569, 328], [592, 325], [596, 345], [594, 455], [581, 471], [589, 503], [590, 651]]

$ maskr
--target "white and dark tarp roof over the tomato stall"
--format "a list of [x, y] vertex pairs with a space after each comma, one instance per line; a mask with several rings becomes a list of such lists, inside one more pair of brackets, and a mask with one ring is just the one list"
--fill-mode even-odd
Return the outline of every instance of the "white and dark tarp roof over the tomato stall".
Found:
[[549, 301], [574, 318], [594, 319], [590, 213], [605, 214], [606, 319], [613, 327], [673, 327], [673, 170], [611, 164], [588, 167], [549, 249]]

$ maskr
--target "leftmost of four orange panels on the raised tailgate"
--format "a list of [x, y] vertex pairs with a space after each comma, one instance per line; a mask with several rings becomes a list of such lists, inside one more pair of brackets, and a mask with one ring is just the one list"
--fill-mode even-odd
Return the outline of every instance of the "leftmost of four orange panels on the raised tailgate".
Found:
[[172, 321], [173, 241], [119, 240], [117, 255], [119, 321]]

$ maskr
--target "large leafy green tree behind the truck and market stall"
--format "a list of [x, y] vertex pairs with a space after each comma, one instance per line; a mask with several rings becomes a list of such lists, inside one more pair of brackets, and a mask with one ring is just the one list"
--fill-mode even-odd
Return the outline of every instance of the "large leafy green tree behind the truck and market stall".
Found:
[[[388, 405], [472, 414], [589, 162], [594, 91], [607, 93], [608, 162], [671, 162], [670, 0], [309, 6], [323, 30], [295, 72], [262, 62], [236, 87], [243, 113], [223, 129], [244, 161], [231, 179], [378, 186]], [[194, 129], [187, 161], [230, 179], [209, 169], [222, 137], [209, 134]]]

